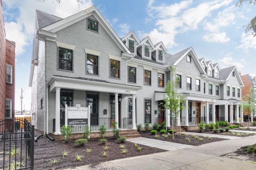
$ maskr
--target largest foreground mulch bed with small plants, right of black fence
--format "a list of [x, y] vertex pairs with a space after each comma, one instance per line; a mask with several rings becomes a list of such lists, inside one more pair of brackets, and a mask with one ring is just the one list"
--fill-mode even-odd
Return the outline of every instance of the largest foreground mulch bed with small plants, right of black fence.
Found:
[[[125, 142], [125, 149], [128, 150], [126, 154], [122, 154], [119, 148], [120, 143], [116, 142], [116, 139], [108, 139], [108, 150], [104, 150], [104, 144], [100, 144], [99, 139], [90, 139], [87, 144], [81, 147], [74, 146], [74, 140], [69, 143], [64, 143], [62, 141], [52, 142], [46, 137], [38, 140], [35, 143], [35, 170], [51, 170], [52, 168], [63, 169], [72, 168], [82, 165], [91, 164], [91, 166], [96, 166], [97, 164], [105, 161], [111, 161], [115, 159], [123, 159], [133, 156], [147, 155], [151, 153], [165, 152], [167, 150], [162, 150], [158, 148], [151, 148], [149, 146], [138, 144], [142, 147], [142, 151], [139, 152], [137, 147], [134, 147], [134, 143]], [[91, 149], [91, 153], [87, 153], [87, 148]], [[67, 150], [68, 156], [62, 156], [64, 150]], [[102, 153], [106, 151], [107, 156], [102, 156]], [[76, 161], [76, 155], [84, 156], [81, 161]], [[52, 164], [50, 160], [58, 160], [56, 164]]]

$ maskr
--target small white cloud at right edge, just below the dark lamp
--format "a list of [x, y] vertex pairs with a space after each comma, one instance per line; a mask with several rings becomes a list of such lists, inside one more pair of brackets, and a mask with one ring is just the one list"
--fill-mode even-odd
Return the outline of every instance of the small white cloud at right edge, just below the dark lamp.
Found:
[[245, 52], [248, 52], [250, 48], [256, 50], [256, 37], [253, 37], [252, 34], [242, 33], [241, 44], [238, 48], [243, 49]]

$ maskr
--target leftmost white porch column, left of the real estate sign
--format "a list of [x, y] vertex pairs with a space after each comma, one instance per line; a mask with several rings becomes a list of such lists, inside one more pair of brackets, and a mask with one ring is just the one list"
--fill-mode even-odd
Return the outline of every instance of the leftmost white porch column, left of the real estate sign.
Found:
[[[61, 88], [55, 88], [56, 99], [55, 99], [55, 134], [61, 134]], [[66, 116], [66, 115], [65, 115]]]

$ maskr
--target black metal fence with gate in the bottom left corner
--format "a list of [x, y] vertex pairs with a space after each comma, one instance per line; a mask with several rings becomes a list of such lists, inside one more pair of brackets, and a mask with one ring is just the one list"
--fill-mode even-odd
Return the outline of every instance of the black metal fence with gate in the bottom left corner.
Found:
[[0, 169], [34, 170], [34, 125], [24, 119], [0, 120]]

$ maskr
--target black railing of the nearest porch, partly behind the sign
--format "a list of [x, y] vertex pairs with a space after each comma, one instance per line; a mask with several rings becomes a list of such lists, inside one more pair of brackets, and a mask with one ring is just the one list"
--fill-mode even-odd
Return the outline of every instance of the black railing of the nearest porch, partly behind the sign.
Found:
[[[110, 130], [114, 119], [107, 118], [90, 118], [90, 129], [99, 130], [100, 126], [104, 125], [107, 130]], [[60, 119], [60, 128], [65, 125], [65, 119]], [[72, 125], [71, 129], [73, 132], [82, 132], [86, 125]], [[55, 132], [55, 119], [52, 119], [52, 131]]]

